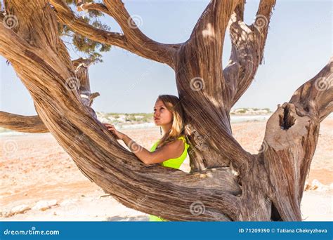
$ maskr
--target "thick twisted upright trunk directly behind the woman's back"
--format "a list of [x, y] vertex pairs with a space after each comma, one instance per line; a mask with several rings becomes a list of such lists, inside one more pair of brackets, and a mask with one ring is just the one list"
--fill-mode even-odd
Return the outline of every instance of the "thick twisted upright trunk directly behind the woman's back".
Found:
[[[233, 138], [228, 102], [221, 97], [227, 91], [222, 72], [223, 39], [238, 2], [211, 1], [177, 54], [178, 94], [194, 129], [188, 133], [196, 148], [190, 158], [193, 171], [230, 166], [230, 162], [240, 172], [247, 169], [249, 153]], [[198, 147], [202, 140], [197, 135], [204, 139], [206, 149]]]

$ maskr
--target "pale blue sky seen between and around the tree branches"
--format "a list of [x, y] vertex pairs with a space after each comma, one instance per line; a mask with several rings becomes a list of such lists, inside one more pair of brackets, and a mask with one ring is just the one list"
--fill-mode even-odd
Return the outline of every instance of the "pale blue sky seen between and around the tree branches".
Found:
[[[209, 1], [124, 1], [131, 15], [142, 19], [141, 30], [155, 41], [186, 41]], [[248, 0], [244, 20], [251, 24], [259, 1]], [[112, 31], [119, 26], [105, 18]], [[230, 56], [226, 36], [223, 65]], [[73, 58], [79, 55], [70, 51]], [[292, 93], [324, 67], [332, 55], [331, 1], [278, 0], [270, 22], [264, 52], [252, 86], [235, 107], [269, 107], [275, 110]], [[103, 54], [104, 62], [90, 68], [91, 90], [98, 91], [93, 108], [101, 112], [152, 112], [157, 95], [177, 95], [173, 70], [158, 62], [113, 47]], [[0, 110], [36, 114], [32, 98], [0, 57]]]

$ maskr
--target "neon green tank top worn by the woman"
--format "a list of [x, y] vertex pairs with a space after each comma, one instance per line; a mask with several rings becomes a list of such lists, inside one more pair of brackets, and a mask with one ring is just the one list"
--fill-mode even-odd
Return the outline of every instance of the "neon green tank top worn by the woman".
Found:
[[[183, 140], [183, 142], [185, 144], [185, 148], [184, 148], [183, 153], [181, 154], [181, 156], [179, 156], [176, 159], [168, 159], [166, 161], [163, 161], [162, 166], [166, 166], [168, 168], [177, 168], [177, 169], [179, 169], [181, 167], [181, 164], [183, 164], [183, 161], [185, 160], [186, 156], [188, 156], [188, 147], [190, 147], [190, 145], [188, 145], [188, 142], [186, 142], [186, 139], [183, 136], [179, 137], [178, 139]], [[159, 143], [159, 140], [157, 140], [157, 142], [155, 142], [155, 144], [152, 145], [152, 148], [150, 149], [150, 152], [155, 151], [158, 143]], [[167, 220], [165, 220], [163, 218], [159, 218], [155, 215], [149, 215], [149, 221], [150, 222], [152, 222], [152, 221], [154, 221], [154, 222], [155, 221], [166, 222]]]

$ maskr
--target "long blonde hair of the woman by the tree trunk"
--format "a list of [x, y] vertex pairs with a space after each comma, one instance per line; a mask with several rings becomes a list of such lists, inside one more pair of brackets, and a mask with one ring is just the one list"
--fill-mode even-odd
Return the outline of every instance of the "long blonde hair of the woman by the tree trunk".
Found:
[[181, 106], [181, 100], [175, 95], [159, 95], [157, 100], [161, 100], [166, 109], [168, 109], [172, 115], [172, 126], [169, 132], [164, 133], [163, 137], [159, 141], [157, 147], [162, 147], [168, 142], [172, 142], [178, 139], [181, 135], [185, 136], [185, 117], [183, 107]]

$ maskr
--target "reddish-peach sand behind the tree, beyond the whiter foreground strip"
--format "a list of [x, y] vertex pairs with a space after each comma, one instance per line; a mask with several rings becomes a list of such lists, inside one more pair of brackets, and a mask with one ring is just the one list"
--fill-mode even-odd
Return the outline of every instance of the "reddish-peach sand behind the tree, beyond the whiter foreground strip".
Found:
[[[333, 119], [326, 119], [321, 124], [308, 182], [313, 179], [324, 185], [333, 182], [332, 126]], [[256, 153], [265, 127], [266, 123], [262, 121], [233, 124], [233, 134], [244, 149]], [[159, 128], [124, 130], [124, 133], [146, 148], [150, 148], [160, 137]], [[100, 187], [81, 174], [74, 161], [49, 133], [2, 136], [0, 156], [0, 213], [6, 213], [20, 204], [34, 206], [44, 199], [60, 202], [103, 194]], [[24, 215], [25, 218], [7, 219], [34, 219], [30, 218], [29, 211]]]

